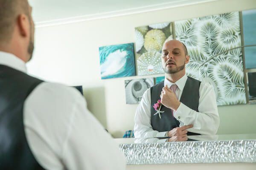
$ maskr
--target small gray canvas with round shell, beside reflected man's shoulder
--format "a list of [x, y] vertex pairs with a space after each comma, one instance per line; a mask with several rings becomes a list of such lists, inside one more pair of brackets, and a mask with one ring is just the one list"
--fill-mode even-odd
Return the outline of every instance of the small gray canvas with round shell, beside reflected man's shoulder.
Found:
[[125, 80], [126, 104], [136, 104], [144, 92], [154, 85], [154, 78]]

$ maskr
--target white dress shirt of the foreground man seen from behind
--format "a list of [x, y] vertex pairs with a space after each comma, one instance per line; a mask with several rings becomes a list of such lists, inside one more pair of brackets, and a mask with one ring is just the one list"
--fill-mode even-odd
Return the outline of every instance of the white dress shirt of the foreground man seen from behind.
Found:
[[[25, 63], [0, 51], [0, 64], [26, 73]], [[88, 111], [75, 88], [42, 82], [24, 102], [25, 134], [35, 159], [48, 170], [125, 170], [118, 144]]]

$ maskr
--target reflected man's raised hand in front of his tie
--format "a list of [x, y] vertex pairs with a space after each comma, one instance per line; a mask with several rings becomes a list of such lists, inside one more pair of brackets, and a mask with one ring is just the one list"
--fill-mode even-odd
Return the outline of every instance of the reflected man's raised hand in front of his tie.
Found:
[[168, 86], [163, 87], [163, 90], [160, 95], [161, 103], [166, 107], [172, 110], [177, 110], [180, 106], [180, 101], [177, 99], [176, 95]]

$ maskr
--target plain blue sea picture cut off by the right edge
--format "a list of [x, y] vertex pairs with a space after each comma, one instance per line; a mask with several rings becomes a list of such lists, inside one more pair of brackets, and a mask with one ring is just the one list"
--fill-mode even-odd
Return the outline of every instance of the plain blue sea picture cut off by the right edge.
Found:
[[[256, 44], [256, 9], [242, 11], [244, 45]], [[256, 68], [256, 46], [244, 48], [245, 68]]]

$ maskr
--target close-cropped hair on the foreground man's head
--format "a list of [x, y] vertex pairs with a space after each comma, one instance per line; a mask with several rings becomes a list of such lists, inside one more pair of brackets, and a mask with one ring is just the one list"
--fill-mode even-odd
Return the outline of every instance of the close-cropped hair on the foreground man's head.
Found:
[[12, 39], [20, 14], [26, 14], [30, 19], [27, 0], [0, 0], [0, 43], [6, 44]]

